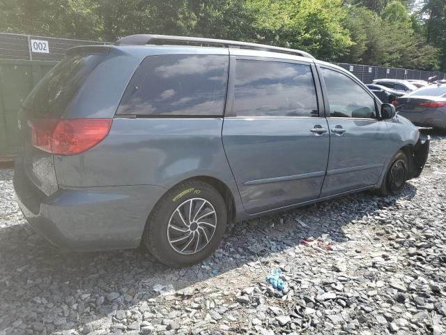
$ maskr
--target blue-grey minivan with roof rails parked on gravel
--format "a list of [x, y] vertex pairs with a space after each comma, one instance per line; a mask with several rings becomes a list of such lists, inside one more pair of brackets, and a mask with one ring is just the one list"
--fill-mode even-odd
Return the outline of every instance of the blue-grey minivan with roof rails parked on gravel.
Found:
[[429, 139], [348, 71], [306, 52], [135, 35], [75, 47], [26, 99], [14, 186], [76, 251], [144, 244], [171, 267], [234, 223], [348, 193], [400, 193]]

